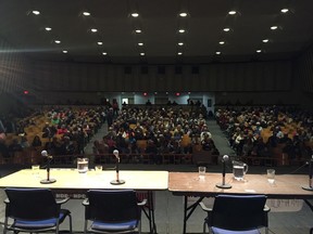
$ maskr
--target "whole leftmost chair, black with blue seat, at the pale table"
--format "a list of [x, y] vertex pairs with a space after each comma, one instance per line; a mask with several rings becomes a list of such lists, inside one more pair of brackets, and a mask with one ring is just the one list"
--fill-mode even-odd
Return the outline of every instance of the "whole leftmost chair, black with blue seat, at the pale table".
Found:
[[[55, 232], [66, 217], [70, 219], [72, 233], [72, 217], [61, 205], [68, 198], [57, 200], [49, 188], [5, 188], [5, 220], [3, 233], [17, 232]], [[13, 221], [9, 224], [9, 221]]]

